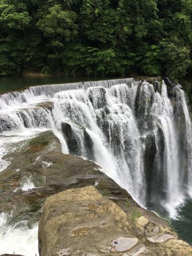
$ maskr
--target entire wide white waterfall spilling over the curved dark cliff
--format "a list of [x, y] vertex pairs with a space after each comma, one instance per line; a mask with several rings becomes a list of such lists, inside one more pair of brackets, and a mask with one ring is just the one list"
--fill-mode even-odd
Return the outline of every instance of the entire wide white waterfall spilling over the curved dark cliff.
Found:
[[[192, 123], [180, 85], [127, 78], [2, 94], [0, 171], [10, 165], [4, 159], [10, 145], [48, 130], [59, 138], [62, 153], [95, 161], [141, 206], [168, 215], [192, 243], [186, 199], [192, 196]], [[29, 178], [20, 189], [35, 187]], [[2, 227], [6, 218], [0, 216]]]

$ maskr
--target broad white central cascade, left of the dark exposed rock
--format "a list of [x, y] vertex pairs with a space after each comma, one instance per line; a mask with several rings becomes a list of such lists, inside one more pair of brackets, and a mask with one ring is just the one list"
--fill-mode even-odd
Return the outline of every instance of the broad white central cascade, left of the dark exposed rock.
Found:
[[[134, 190], [136, 180], [141, 187], [143, 173], [142, 163], [140, 163], [139, 132], [133, 112], [126, 104], [133, 105], [134, 99], [130, 96], [132, 86], [114, 86], [106, 89], [97, 86], [86, 90], [56, 93], [52, 98], [55, 129], [61, 133], [61, 123], [69, 123], [72, 126], [79, 155], [86, 158], [87, 148], [82, 127], [86, 128], [93, 142], [94, 160], [106, 170], [109, 177], [129, 190], [135, 198], [139, 198], [140, 190], [138, 188]], [[117, 97], [113, 96], [114, 91]], [[124, 95], [126, 91], [129, 97]], [[120, 95], [124, 98], [123, 103]], [[103, 120], [104, 108], [108, 108], [105, 120]], [[108, 130], [102, 131], [105, 123], [108, 123]], [[107, 136], [105, 136], [106, 133]], [[119, 139], [119, 148], [115, 148], [116, 139]], [[127, 152], [127, 146], [130, 149], [129, 152]]]

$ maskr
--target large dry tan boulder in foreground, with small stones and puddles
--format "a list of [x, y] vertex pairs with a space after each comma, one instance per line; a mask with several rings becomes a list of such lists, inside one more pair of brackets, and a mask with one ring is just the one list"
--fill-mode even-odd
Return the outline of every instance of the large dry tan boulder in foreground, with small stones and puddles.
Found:
[[[135, 212], [137, 214], [135, 215]], [[142, 215], [142, 216], [141, 216]], [[143, 216], [144, 215], [144, 216]], [[40, 256], [181, 256], [192, 247], [132, 204], [121, 205], [94, 186], [50, 196], [39, 222]]]

